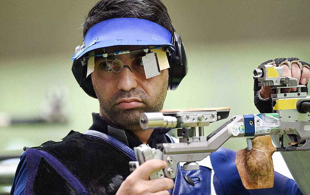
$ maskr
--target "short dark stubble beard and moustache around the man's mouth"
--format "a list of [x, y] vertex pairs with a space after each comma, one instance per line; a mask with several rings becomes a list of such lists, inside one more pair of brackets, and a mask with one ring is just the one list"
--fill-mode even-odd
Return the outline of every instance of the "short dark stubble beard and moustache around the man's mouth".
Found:
[[[162, 110], [167, 94], [167, 87], [168, 81], [163, 83], [160, 90], [153, 97], [149, 97], [143, 89], [139, 88], [129, 91], [119, 90], [108, 100], [102, 98], [95, 87], [94, 90], [100, 103], [100, 110], [109, 121], [118, 127], [130, 131], [138, 131], [142, 130], [139, 124], [139, 118], [143, 112], [159, 112]], [[115, 107], [116, 101], [121, 98], [139, 98], [144, 105], [133, 109], [118, 109]]]

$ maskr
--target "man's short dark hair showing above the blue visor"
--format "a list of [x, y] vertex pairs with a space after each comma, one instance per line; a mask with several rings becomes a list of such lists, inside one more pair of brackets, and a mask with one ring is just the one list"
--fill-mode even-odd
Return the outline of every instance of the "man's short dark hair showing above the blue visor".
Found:
[[83, 36], [95, 24], [113, 18], [139, 18], [155, 22], [173, 35], [167, 8], [159, 0], [100, 0], [82, 24]]

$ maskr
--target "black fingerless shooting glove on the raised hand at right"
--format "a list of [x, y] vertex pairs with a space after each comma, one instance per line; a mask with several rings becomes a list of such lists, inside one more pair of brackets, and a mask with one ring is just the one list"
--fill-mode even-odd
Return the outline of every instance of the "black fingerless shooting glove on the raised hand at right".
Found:
[[[302, 62], [298, 58], [277, 58], [274, 60], [268, 60], [264, 63], [261, 63], [261, 65], [272, 64], [274, 66], [281, 66], [282, 64], [286, 64], [290, 68], [290, 70], [292, 70], [292, 63], [294, 62], [296, 62], [299, 65], [300, 71], [302, 71], [302, 68], [304, 66], [310, 69], [310, 65], [308, 63]], [[267, 99], [263, 99], [262, 97], [260, 97], [259, 90], [261, 88], [262, 87], [258, 86], [258, 78], [254, 78], [254, 104], [260, 113], [271, 113], [272, 112], [271, 98], [269, 97]], [[308, 93], [308, 87], [302, 87], [301, 91]]]

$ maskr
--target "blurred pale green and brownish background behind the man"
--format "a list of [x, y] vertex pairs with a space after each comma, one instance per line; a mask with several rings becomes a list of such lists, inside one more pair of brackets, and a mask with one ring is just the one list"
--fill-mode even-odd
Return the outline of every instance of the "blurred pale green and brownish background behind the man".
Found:
[[[0, 1], [0, 113], [14, 119], [44, 114], [52, 92], [63, 95], [67, 123], [0, 126], [0, 156], [58, 141], [92, 124], [98, 101], [71, 73], [80, 28], [95, 0]], [[310, 62], [310, 1], [163, 0], [188, 56], [188, 75], [167, 94], [164, 109], [231, 107], [230, 116], [258, 113], [252, 71], [279, 57]], [[3, 118], [2, 118], [3, 120]], [[206, 133], [223, 121], [210, 124]], [[224, 144], [244, 148], [245, 139]]]

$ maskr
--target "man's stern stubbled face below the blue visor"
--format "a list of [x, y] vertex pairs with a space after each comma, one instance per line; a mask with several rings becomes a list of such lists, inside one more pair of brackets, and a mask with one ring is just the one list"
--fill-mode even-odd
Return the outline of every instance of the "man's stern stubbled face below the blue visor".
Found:
[[[110, 53], [124, 49], [139, 48], [113, 47], [106, 51]], [[91, 79], [100, 103], [100, 115], [122, 128], [140, 130], [139, 117], [143, 112], [158, 112], [162, 109], [168, 87], [168, 69], [146, 79], [139, 57], [128, 54], [108, 56], [108, 63], [116, 57], [124, 64], [123, 70], [118, 73], [112, 70], [107, 72], [103, 68], [105, 59], [95, 58]]]

